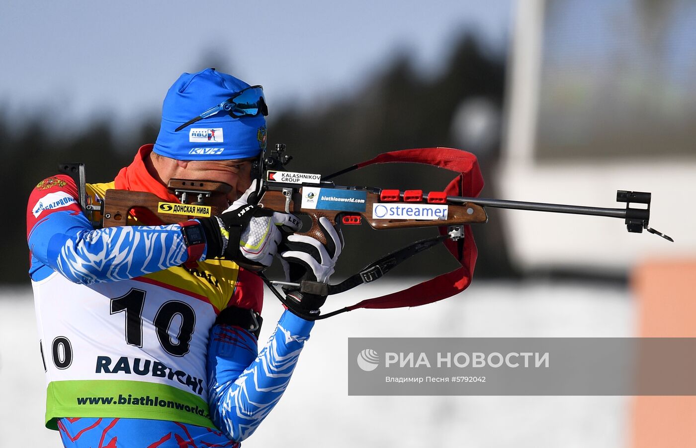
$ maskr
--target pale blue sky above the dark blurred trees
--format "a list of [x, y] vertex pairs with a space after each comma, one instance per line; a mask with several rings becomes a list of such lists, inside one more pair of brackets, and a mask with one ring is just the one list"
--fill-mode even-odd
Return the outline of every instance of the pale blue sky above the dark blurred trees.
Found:
[[512, 0], [36, 1], [0, 3], [0, 107], [60, 130], [159, 114], [182, 72], [219, 61], [271, 106], [348, 94], [398, 52], [424, 75], [466, 30], [500, 51]]

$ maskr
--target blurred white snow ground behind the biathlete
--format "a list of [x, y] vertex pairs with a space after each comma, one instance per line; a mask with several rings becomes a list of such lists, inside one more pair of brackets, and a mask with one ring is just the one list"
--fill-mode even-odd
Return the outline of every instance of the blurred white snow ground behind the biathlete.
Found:
[[[384, 280], [334, 300], [345, 305], [415, 282]], [[281, 312], [267, 293], [262, 342]], [[475, 281], [425, 307], [336, 316], [317, 323], [285, 396], [243, 445], [623, 447], [630, 397], [348, 396], [347, 337], [630, 337], [635, 322], [624, 288], [540, 281]], [[44, 373], [29, 288], [0, 289], [0, 384], [0, 446], [60, 447], [58, 434], [43, 426]]]

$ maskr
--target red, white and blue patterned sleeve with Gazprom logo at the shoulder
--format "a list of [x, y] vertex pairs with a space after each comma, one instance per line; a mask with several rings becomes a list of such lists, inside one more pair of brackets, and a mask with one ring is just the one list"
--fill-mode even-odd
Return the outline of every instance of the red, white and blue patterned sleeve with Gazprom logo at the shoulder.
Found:
[[118, 281], [187, 260], [178, 224], [95, 230], [77, 197], [69, 176], [42, 180], [31, 192], [26, 224], [33, 279], [56, 271], [81, 284]]

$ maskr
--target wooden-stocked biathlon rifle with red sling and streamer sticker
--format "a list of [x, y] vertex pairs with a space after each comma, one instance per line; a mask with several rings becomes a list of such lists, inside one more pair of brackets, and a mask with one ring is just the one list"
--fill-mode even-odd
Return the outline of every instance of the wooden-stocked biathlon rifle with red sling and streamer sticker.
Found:
[[[318, 295], [333, 295], [348, 291], [359, 284], [375, 281], [396, 265], [411, 256], [443, 242], [452, 256], [462, 267], [440, 275], [398, 293], [363, 300], [351, 307], [338, 309], [322, 316], [302, 316], [311, 320], [327, 318], [352, 309], [392, 308], [416, 306], [448, 298], [470, 284], [476, 258], [476, 247], [469, 224], [488, 222], [484, 207], [532, 210], [550, 213], [570, 213], [624, 219], [626, 229], [631, 233], [642, 233], [643, 229], [669, 241], [669, 236], [649, 226], [651, 193], [617, 191], [617, 201], [625, 203], [625, 208], [599, 208], [571, 206], [554, 203], [525, 201], [506, 201], [477, 197], [483, 180], [473, 154], [452, 148], [425, 148], [384, 153], [374, 159], [355, 164], [329, 176], [315, 173], [285, 171], [292, 156], [285, 153], [285, 145], [277, 144], [269, 153], [261, 153], [254, 164], [255, 176], [260, 178], [256, 198], [258, 206], [271, 210], [308, 215], [310, 228], [299, 233], [326, 243], [324, 233], [319, 227], [319, 218], [326, 217], [331, 224], [360, 225], [363, 220], [376, 230], [403, 229], [413, 227], [436, 227], [441, 235], [413, 242], [406, 247], [373, 261], [356, 275], [340, 284], [328, 285], [316, 281], [303, 280], [300, 283], [271, 281], [259, 272], [260, 277], [271, 288], [276, 297], [288, 307], [293, 307], [284, 295], [274, 286], [294, 286], [301, 291]], [[359, 169], [373, 163], [416, 162], [433, 164], [458, 172], [450, 185], [441, 192], [424, 193], [422, 190], [386, 190], [378, 187], [358, 187], [336, 185], [331, 179], [343, 173]], [[84, 167], [81, 164], [63, 164], [61, 172], [73, 176], [77, 185], [84, 185]], [[77, 167], [77, 169], [76, 169]], [[80, 187], [81, 206], [88, 213], [95, 226], [111, 227], [130, 224], [129, 215], [134, 210], [144, 209], [155, 215], [162, 224], [175, 224], [184, 219], [212, 216], [223, 211], [221, 203], [230, 186], [205, 180], [172, 179], [169, 190], [180, 203], [164, 202], [150, 192], [129, 192], [107, 190], [100, 204], [90, 203]], [[452, 194], [456, 193], [456, 194]], [[467, 194], [468, 193], [468, 194]], [[631, 207], [632, 204], [640, 204]], [[97, 217], [96, 212], [100, 213]], [[296, 310], [294, 310], [296, 311]], [[301, 314], [301, 312], [299, 313]]]

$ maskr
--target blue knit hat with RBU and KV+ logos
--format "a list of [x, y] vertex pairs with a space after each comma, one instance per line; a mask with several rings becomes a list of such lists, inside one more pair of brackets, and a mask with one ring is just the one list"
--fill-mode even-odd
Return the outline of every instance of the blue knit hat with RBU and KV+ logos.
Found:
[[233, 118], [221, 112], [175, 132], [248, 86], [214, 68], [181, 75], [164, 98], [155, 153], [177, 160], [234, 160], [258, 155], [266, 148], [266, 118], [262, 114]]

